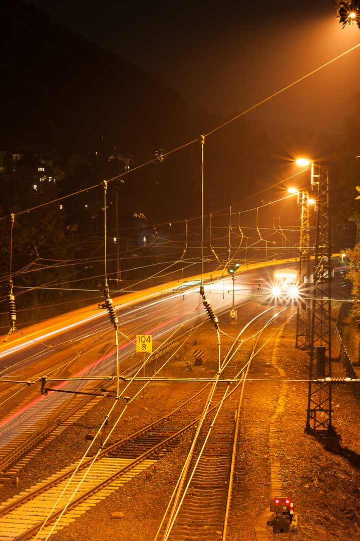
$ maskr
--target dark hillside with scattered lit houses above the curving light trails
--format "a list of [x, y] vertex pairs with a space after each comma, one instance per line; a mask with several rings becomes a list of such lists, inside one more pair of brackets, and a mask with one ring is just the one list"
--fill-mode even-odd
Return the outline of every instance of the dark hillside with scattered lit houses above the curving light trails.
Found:
[[[110, 279], [125, 289], [143, 287], [153, 274], [161, 280], [169, 263], [178, 268], [187, 241], [186, 258], [198, 261], [201, 229], [194, 219], [202, 211], [202, 174], [205, 244], [210, 249], [211, 234], [219, 253], [228, 249], [231, 207], [234, 252], [243, 236], [240, 228], [249, 245], [258, 242], [257, 207], [283, 197], [295, 155], [306, 149], [311, 156], [314, 141], [321, 142], [321, 156], [334, 149], [335, 142], [320, 134], [310, 137], [246, 116], [215, 130], [224, 120], [205, 110], [193, 113], [159, 78], [51, 22], [22, 0], [0, 2], [0, 50], [0, 325], [5, 326], [2, 314], [7, 320], [9, 291], [3, 286], [9, 285], [10, 253], [18, 310], [39, 307], [22, 322], [55, 315], [61, 302], [86, 303], [98, 296], [98, 283], [104, 281], [106, 207]], [[202, 170], [201, 135], [210, 132]], [[124, 173], [109, 182], [104, 203], [103, 181]], [[274, 185], [276, 191], [265, 193]], [[53, 200], [57, 205], [46, 204]], [[282, 213], [287, 216], [289, 209]], [[275, 231], [274, 223], [279, 215], [272, 207], [259, 212], [265, 236]], [[296, 228], [298, 218], [286, 224], [282, 219], [281, 225]], [[51, 314], [40, 313], [44, 306]]]

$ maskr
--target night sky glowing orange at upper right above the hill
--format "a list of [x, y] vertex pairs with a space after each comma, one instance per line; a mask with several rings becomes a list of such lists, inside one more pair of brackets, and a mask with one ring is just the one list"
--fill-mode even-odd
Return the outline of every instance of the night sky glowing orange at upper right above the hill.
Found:
[[[160, 75], [192, 109], [241, 113], [360, 43], [336, 0], [33, 0], [100, 47]], [[360, 89], [360, 47], [249, 116], [341, 133]]]

